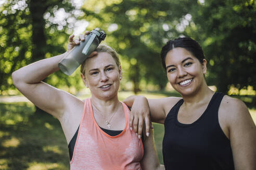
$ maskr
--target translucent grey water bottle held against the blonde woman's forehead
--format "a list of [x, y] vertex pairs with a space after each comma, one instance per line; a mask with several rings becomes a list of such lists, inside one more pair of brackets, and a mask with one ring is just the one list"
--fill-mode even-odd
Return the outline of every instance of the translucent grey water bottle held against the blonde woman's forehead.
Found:
[[94, 29], [85, 36], [84, 41], [75, 46], [58, 64], [60, 70], [70, 76], [84, 60], [98, 47], [106, 34], [99, 28]]

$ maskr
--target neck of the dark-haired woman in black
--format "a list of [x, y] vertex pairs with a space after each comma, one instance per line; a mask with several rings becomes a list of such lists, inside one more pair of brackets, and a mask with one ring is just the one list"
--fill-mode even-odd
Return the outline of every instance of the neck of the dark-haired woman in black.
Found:
[[182, 97], [185, 104], [193, 105], [201, 102], [208, 102], [211, 99], [213, 94], [214, 94], [214, 91], [212, 91], [207, 86], [206, 82], [204, 82], [202, 84], [202, 87], [199, 88], [198, 91], [196, 91], [191, 95], [183, 95]]

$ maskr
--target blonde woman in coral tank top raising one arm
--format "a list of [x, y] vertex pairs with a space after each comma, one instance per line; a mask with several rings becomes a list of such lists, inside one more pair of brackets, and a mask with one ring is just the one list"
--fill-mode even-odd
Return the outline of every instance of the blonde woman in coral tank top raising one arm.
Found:
[[[86, 32], [88, 34], [89, 32]], [[130, 110], [118, 100], [122, 70], [117, 53], [99, 46], [81, 67], [91, 90], [85, 101], [42, 82], [78, 45], [69, 37], [67, 52], [22, 67], [12, 74], [15, 86], [37, 107], [56, 117], [69, 144], [70, 169], [158, 169], [152, 134], [144, 140], [130, 131]]]

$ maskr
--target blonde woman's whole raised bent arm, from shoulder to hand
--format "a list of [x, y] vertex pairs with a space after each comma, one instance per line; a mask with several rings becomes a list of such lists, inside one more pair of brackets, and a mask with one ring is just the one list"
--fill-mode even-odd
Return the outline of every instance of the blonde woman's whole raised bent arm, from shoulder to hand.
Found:
[[[86, 32], [85, 34], [88, 34]], [[42, 82], [50, 74], [59, 70], [59, 61], [68, 52], [79, 44], [79, 39], [73, 40], [74, 35], [69, 37], [67, 52], [40, 60], [24, 66], [12, 73], [12, 80], [17, 89], [32, 103], [49, 114], [60, 119], [65, 111], [65, 106], [73, 96]], [[84, 36], [80, 36], [84, 40]]]

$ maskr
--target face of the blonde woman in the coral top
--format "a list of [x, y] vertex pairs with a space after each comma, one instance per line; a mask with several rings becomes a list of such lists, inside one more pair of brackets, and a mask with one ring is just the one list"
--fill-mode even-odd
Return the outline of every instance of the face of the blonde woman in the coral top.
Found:
[[85, 63], [85, 85], [91, 90], [92, 97], [108, 100], [117, 96], [121, 79], [121, 67], [107, 52], [98, 52]]

